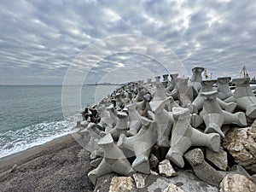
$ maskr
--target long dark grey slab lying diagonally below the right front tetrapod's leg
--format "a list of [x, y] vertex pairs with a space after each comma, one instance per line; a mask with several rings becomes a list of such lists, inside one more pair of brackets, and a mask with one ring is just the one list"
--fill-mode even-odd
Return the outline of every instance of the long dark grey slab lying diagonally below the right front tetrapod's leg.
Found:
[[193, 167], [195, 175], [202, 181], [219, 186], [219, 183], [225, 177], [225, 172], [216, 171], [204, 160], [204, 154], [200, 148], [195, 148], [184, 154], [185, 159]]

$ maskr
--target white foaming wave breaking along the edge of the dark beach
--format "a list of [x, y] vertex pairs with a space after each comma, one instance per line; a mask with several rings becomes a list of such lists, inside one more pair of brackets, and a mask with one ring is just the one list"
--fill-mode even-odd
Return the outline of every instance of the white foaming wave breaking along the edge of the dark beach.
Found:
[[43, 122], [16, 131], [0, 133], [0, 158], [47, 143], [57, 137], [72, 133], [76, 121]]

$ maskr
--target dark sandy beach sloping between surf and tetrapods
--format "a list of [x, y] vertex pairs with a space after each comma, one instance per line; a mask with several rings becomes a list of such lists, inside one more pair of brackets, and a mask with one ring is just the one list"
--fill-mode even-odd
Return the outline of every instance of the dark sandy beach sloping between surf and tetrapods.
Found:
[[72, 135], [0, 159], [1, 191], [93, 191], [90, 153]]

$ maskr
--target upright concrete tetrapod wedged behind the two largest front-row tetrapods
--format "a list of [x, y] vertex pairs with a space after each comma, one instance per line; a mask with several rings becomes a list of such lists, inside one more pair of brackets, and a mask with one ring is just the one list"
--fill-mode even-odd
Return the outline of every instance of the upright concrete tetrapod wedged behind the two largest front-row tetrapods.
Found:
[[[157, 127], [157, 145], [164, 148], [168, 148], [170, 146], [169, 136], [173, 122], [172, 113], [167, 112], [165, 109], [166, 105], [170, 105], [170, 100], [173, 100], [172, 96], [163, 101], [154, 103], [153, 119]], [[152, 108], [152, 102], [149, 102], [149, 105], [150, 108]], [[148, 116], [151, 116], [149, 115], [149, 112], [150, 111], [148, 111]]]

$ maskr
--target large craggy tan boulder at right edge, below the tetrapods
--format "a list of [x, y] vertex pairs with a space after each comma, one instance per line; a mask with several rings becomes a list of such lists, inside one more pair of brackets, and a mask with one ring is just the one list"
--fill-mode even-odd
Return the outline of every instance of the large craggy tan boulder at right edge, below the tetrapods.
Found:
[[228, 131], [223, 147], [229, 150], [237, 164], [256, 173], [256, 129], [247, 127]]

